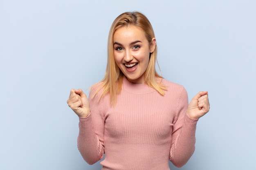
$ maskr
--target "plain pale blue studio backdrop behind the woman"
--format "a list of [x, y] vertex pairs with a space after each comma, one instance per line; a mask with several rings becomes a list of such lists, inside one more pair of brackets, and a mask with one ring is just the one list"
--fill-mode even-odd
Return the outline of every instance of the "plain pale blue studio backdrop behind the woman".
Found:
[[103, 78], [110, 25], [126, 11], [153, 25], [164, 78], [189, 101], [209, 91], [180, 170], [255, 169], [255, 9], [255, 0], [0, 0], [0, 169], [101, 169], [83, 161], [66, 101]]

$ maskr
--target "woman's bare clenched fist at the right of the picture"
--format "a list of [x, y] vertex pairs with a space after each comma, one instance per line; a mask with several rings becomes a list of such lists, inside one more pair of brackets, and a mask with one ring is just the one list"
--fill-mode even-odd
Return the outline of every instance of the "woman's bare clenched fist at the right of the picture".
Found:
[[186, 113], [191, 119], [199, 119], [205, 115], [210, 110], [210, 103], [208, 99], [207, 91], [200, 91], [198, 94], [193, 97], [189, 106], [186, 110]]

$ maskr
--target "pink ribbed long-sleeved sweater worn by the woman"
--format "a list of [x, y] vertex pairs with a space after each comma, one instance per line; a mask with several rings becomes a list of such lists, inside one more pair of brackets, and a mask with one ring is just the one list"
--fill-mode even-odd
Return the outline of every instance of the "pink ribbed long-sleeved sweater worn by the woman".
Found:
[[124, 78], [115, 108], [109, 95], [99, 102], [100, 93], [89, 97], [91, 113], [79, 117], [78, 148], [85, 161], [96, 163], [105, 153], [102, 170], [169, 170], [168, 160], [183, 166], [195, 150], [198, 120], [186, 115], [185, 88], [165, 79], [163, 84], [164, 96]]

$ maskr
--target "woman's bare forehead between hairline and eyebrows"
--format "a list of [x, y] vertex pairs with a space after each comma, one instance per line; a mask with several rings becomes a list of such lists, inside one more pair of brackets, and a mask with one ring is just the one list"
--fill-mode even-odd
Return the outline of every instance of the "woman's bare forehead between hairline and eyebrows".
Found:
[[134, 40], [146, 40], [145, 32], [138, 26], [122, 26], [117, 29], [113, 35], [113, 41], [134, 41]]

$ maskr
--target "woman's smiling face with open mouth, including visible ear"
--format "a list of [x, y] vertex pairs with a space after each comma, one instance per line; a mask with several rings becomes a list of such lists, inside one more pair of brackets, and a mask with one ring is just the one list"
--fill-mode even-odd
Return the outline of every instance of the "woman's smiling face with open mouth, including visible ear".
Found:
[[128, 81], [143, 84], [150, 52], [155, 49], [155, 38], [150, 44], [142, 29], [133, 25], [123, 26], [115, 31], [113, 46], [115, 62]]

